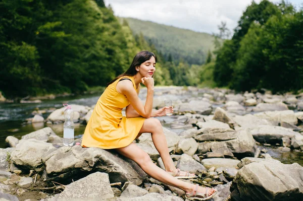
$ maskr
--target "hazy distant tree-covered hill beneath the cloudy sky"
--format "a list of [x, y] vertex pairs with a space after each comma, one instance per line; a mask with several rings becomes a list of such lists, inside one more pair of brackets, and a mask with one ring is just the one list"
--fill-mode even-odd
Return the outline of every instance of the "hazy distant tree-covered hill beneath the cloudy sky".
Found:
[[172, 59], [177, 62], [203, 64], [206, 61], [208, 50], [214, 50], [214, 37], [211, 34], [133, 18], [123, 19], [127, 20], [134, 35], [142, 33], [166, 60], [169, 60], [171, 55]]

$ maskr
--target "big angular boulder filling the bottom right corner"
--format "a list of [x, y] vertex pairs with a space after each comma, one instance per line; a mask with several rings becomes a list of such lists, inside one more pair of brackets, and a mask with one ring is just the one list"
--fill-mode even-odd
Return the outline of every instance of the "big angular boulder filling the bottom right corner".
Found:
[[242, 167], [232, 182], [231, 200], [303, 200], [303, 167], [260, 162]]

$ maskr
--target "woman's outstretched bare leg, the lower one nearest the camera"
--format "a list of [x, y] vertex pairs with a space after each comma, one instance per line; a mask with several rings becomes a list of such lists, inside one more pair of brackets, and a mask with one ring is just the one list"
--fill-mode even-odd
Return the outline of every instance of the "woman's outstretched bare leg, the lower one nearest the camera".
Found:
[[[131, 143], [130, 145], [116, 149], [121, 155], [136, 162], [142, 170], [149, 176], [161, 181], [165, 184], [180, 188], [185, 192], [191, 192], [195, 187], [194, 184], [184, 182], [182, 180], [176, 179], [151, 161], [149, 155], [139, 148], [136, 144]], [[199, 187], [200, 192], [205, 192], [205, 188]], [[215, 192], [215, 189], [209, 190], [209, 195]]]

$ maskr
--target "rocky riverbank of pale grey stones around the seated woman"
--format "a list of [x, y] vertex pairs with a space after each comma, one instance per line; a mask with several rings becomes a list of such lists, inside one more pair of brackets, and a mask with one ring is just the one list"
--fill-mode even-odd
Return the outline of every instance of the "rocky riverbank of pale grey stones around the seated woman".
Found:
[[[143, 99], [144, 88], [140, 93]], [[262, 144], [278, 146], [281, 152], [303, 150], [303, 94], [162, 87], [155, 90], [154, 108], [162, 107], [165, 99], [173, 100], [175, 111], [171, 120], [159, 118], [171, 157], [176, 167], [198, 175], [187, 182], [215, 187], [213, 200], [303, 199], [303, 167], [283, 164], [258, 148]], [[72, 107], [74, 121], [85, 124], [93, 106]], [[46, 119], [37, 111], [27, 122], [61, 124], [63, 111], [57, 109]], [[0, 149], [4, 200], [185, 199], [183, 191], [148, 177], [115, 152], [64, 147], [50, 127], [6, 141], [11, 148]], [[135, 143], [164, 168], [150, 133]]]

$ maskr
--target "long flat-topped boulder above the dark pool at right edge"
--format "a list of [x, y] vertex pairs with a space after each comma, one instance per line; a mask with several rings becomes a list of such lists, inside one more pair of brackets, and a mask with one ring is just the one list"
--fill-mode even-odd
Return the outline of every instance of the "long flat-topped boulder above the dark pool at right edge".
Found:
[[300, 133], [293, 131], [290, 128], [284, 128], [281, 126], [273, 125], [259, 125], [250, 130], [254, 139], [259, 143], [270, 143], [276, 144], [281, 143], [282, 138], [286, 137], [291, 139], [295, 135], [300, 135]]

